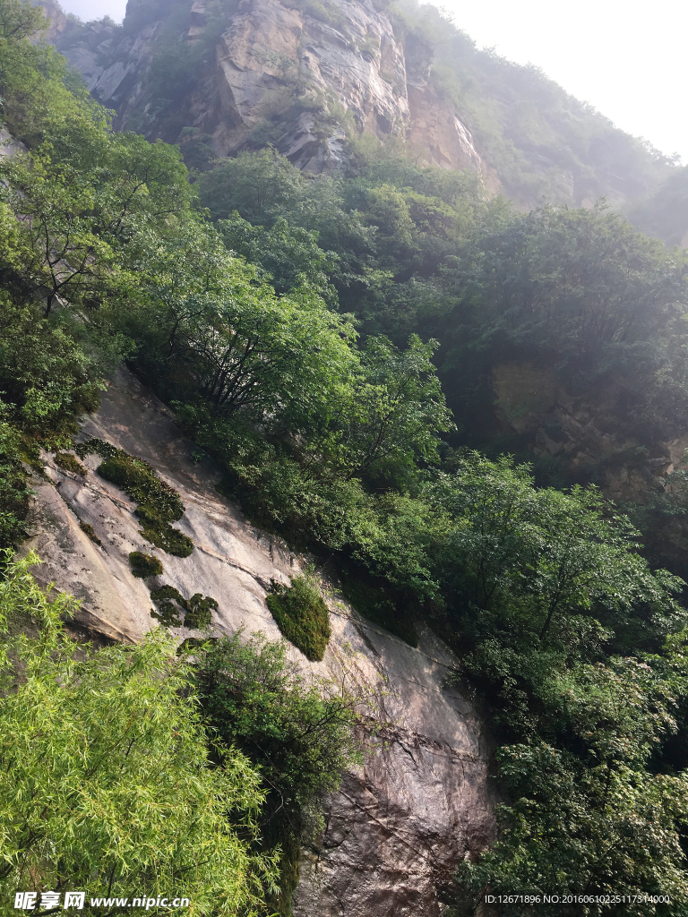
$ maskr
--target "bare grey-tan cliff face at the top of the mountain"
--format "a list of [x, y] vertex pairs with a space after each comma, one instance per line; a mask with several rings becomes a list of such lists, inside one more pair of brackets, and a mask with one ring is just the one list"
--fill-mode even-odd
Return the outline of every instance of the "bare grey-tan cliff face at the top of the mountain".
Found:
[[[193, 75], [167, 105], [160, 94], [170, 85], [152, 88], [167, 65], [161, 60], [169, 35], [162, 7], [138, 17], [141, 4], [129, 0], [124, 28], [107, 22], [79, 28], [55, 13], [52, 0], [44, 6], [52, 17], [49, 39], [95, 98], [115, 110], [117, 127], [170, 142], [184, 128], [188, 139], [195, 128], [226, 156], [255, 139], [283, 105], [270, 139], [306, 171], [330, 171], [341, 162], [344, 124], [358, 134], [407, 138], [421, 159], [472, 169], [498, 185], [469, 127], [428, 88], [432, 61], [407, 61], [388, 17], [371, 0], [302, 8], [286, 0], [240, 0], [221, 17], [212, 0], [194, 0], [183, 7], [182, 34], [174, 33], [177, 53], [188, 56]], [[305, 99], [301, 105], [290, 105], [295, 89]]]

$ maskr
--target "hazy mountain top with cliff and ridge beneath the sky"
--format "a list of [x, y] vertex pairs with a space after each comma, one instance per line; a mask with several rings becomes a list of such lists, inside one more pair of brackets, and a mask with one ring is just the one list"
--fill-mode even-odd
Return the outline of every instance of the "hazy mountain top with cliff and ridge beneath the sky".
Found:
[[476, 50], [411, 0], [129, 0], [121, 27], [44, 6], [49, 39], [117, 127], [181, 143], [192, 166], [272, 143], [301, 169], [331, 171], [361, 135], [397, 138], [523, 207], [543, 195], [627, 204], [673, 170], [538, 70]]

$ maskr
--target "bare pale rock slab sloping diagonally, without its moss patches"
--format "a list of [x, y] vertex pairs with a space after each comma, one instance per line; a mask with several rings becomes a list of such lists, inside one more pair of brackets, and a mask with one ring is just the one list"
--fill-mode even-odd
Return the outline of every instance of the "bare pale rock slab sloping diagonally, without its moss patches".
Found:
[[[216, 633], [243, 624], [279, 638], [266, 590], [270, 580], [288, 581], [299, 558], [216, 492], [219, 470], [194, 454], [171, 412], [120, 371], [82, 436], [145, 458], [172, 484], [186, 508], [177, 525], [193, 538], [194, 552], [175, 558], [144, 542], [135, 505], [94, 474], [100, 459], [86, 458], [84, 479], [46, 455], [26, 549], [43, 559], [39, 581], [82, 600], [75, 626], [96, 640], [135, 641], [155, 624], [148, 589], [128, 564], [129, 551], [145, 550], [161, 558], [160, 583], [216, 599]], [[92, 525], [101, 545], [80, 524]], [[325, 832], [304, 852], [294, 915], [438, 917], [457, 863], [494, 836], [480, 724], [471, 705], [444, 687], [453, 659], [429, 631], [413, 649], [334, 594], [328, 603], [333, 635], [323, 662], [310, 663], [295, 648], [291, 655], [306, 671], [355, 680], [383, 727], [361, 768], [328, 801]], [[194, 635], [183, 627], [172, 633]]]

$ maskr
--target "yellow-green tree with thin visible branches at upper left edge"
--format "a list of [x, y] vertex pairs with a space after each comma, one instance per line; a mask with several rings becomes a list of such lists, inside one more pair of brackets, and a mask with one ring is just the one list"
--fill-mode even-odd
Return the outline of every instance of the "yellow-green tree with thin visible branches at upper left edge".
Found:
[[58, 300], [93, 306], [126, 294], [134, 284], [128, 262], [189, 200], [179, 153], [162, 144], [125, 135], [73, 159], [0, 161], [5, 221], [14, 220], [0, 271], [17, 291], [43, 299], [46, 315]]

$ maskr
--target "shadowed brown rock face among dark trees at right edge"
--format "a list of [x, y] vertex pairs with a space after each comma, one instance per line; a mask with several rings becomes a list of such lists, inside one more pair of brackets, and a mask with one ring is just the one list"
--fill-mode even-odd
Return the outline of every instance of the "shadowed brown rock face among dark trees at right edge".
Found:
[[686, 499], [688, 434], [629, 428], [627, 402], [638, 394], [632, 380], [573, 393], [554, 370], [512, 362], [494, 367], [493, 390], [503, 435], [516, 435], [541, 470], [594, 481], [643, 529], [651, 563], [688, 578], [688, 520], [677, 511]]

